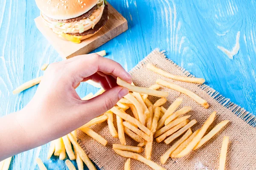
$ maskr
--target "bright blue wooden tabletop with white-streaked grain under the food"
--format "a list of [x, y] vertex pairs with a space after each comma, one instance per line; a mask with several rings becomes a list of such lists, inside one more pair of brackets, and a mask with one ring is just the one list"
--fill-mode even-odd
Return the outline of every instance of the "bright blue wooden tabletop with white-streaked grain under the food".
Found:
[[[126, 70], [154, 48], [186, 68], [232, 102], [256, 114], [256, 1], [254, 0], [109, 0], [128, 20], [128, 31], [95, 51]], [[61, 57], [35, 26], [39, 10], [34, 0], [0, 0], [0, 116], [18, 111], [35, 94], [37, 86], [18, 95], [12, 90], [43, 75], [41, 65]], [[240, 31], [240, 49], [229, 59], [218, 46], [232, 51]], [[82, 83], [84, 96], [93, 88]], [[20, 153], [11, 170], [38, 169], [41, 158], [49, 170], [66, 169], [64, 161], [46, 161], [49, 144]]]

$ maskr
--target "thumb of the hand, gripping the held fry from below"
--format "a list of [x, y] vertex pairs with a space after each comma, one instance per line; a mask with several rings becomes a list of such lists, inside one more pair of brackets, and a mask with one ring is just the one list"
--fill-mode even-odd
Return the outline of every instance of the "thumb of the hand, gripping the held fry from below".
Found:
[[127, 88], [116, 86], [99, 96], [84, 101], [81, 107], [83, 111], [86, 111], [84, 113], [87, 114], [87, 119], [91, 120], [113, 108], [116, 103], [128, 93], [129, 91]]

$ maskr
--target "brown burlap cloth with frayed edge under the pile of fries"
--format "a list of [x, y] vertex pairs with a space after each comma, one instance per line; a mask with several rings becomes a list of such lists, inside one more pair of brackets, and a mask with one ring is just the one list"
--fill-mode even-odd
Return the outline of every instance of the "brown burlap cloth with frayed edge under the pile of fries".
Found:
[[[198, 121], [198, 123], [192, 127], [193, 132], [203, 125], [204, 121], [212, 111], [217, 111], [217, 116], [209, 127], [209, 130], [222, 120], [230, 120], [230, 123], [224, 127], [224, 129], [217, 133], [201, 148], [192, 151], [192, 153], [183, 158], [168, 159], [165, 165], [160, 163], [160, 156], [162, 156], [163, 153], [176, 142], [176, 140], [168, 145], [164, 142], [157, 143], [154, 141], [151, 160], [168, 170], [218, 169], [223, 136], [229, 136], [230, 143], [226, 161], [227, 170], [256, 170], [256, 117], [245, 111], [243, 108], [240, 108], [238, 105], [233, 104], [229, 99], [224, 98], [207, 85], [179, 82], [149, 71], [145, 66], [148, 62], [157, 65], [157, 67], [172, 74], [189, 77], [192, 77], [192, 75], [171, 60], [167, 59], [164, 52], [160, 52], [158, 49], [151, 52], [151, 54], [145, 57], [145, 59], [130, 71], [135, 85], [149, 87], [154, 84], [156, 79], [161, 78], [187, 88], [201, 96], [203, 99], [206, 99], [210, 105], [209, 109], [203, 108], [188, 96], [180, 94], [177, 91], [164, 87], [160, 89], [169, 92], [168, 102], [164, 105], [165, 108], [168, 108], [177, 97], [183, 97], [183, 103], [179, 108], [186, 105], [192, 107], [192, 111], [188, 114], [191, 115], [191, 119], [196, 119]], [[151, 102], [155, 102], [157, 98], [149, 96], [149, 99]], [[116, 122], [114, 123], [116, 124]], [[78, 132], [79, 144], [81, 144], [90, 159], [92, 159], [102, 170], [122, 170], [127, 158], [123, 158], [113, 152], [112, 144], [119, 143], [119, 139], [114, 139], [111, 136], [107, 122], [95, 125], [92, 129], [108, 140], [107, 146], [102, 146], [102, 144], [94, 141], [81, 131]], [[126, 136], [126, 143], [133, 146], [137, 146], [138, 144], [128, 136]], [[144, 152], [142, 155], [144, 156]], [[150, 169], [150, 167], [137, 160], [131, 160], [131, 170]]]

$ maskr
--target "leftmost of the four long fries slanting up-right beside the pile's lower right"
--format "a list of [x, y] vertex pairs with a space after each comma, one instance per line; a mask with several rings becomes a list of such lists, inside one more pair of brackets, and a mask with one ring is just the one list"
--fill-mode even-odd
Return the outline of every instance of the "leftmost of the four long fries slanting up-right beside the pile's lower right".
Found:
[[160, 161], [162, 164], [165, 164], [167, 159], [169, 159], [169, 157], [171, 156], [172, 152], [180, 146], [180, 144], [182, 144], [186, 139], [189, 138], [189, 136], [192, 135], [192, 130], [189, 128], [189, 130], [186, 131], [186, 133], [177, 141], [175, 142], [175, 144], [172, 145], [172, 147], [170, 147], [170, 149], [168, 149], [166, 151], [166, 153], [164, 153], [161, 158]]

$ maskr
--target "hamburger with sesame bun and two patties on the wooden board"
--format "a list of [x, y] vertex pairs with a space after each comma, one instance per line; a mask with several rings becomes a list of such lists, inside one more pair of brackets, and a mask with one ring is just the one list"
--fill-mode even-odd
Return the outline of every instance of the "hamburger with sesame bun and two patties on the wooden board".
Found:
[[96, 34], [108, 21], [105, 0], [35, 0], [44, 23], [71, 42]]

